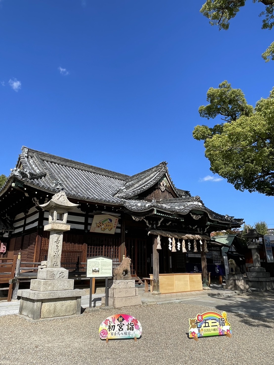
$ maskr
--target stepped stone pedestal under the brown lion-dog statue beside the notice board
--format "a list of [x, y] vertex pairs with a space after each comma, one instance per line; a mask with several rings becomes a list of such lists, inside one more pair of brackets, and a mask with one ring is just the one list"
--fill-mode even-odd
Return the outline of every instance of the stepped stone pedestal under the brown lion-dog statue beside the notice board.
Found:
[[[102, 298], [102, 305], [105, 298]], [[109, 280], [109, 306], [114, 308], [139, 306], [141, 297], [134, 280]]]

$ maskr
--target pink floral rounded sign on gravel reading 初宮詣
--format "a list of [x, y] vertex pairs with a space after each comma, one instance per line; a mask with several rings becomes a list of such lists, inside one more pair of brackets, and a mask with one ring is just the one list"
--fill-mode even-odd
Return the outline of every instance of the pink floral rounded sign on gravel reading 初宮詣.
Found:
[[99, 327], [100, 338], [121, 339], [121, 338], [140, 338], [142, 334], [141, 323], [128, 314], [115, 314], [105, 319]]

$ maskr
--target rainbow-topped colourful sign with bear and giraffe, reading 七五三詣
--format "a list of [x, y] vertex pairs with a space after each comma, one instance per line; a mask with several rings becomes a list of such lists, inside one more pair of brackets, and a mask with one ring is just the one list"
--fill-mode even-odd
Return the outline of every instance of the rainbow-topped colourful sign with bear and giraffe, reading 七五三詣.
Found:
[[189, 319], [189, 337], [198, 340], [198, 337], [222, 336], [231, 337], [231, 325], [227, 320], [227, 313], [205, 312], [197, 314], [196, 318]]

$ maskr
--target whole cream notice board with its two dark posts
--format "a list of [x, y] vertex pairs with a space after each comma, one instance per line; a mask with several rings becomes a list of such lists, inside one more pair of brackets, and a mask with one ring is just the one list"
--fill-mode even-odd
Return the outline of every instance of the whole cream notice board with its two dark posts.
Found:
[[87, 258], [87, 278], [90, 278], [90, 308], [92, 308], [92, 278], [106, 278], [106, 306], [109, 305], [108, 278], [113, 276], [112, 258], [94, 256]]

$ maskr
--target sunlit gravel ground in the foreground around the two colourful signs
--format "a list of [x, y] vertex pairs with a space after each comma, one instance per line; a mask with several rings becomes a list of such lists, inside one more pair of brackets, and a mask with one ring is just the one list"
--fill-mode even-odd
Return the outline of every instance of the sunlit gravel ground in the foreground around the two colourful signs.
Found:
[[[213, 309], [184, 303], [136, 306], [40, 323], [4, 316], [0, 364], [273, 364], [271, 319], [228, 313], [231, 339], [188, 339], [189, 318]], [[141, 322], [142, 337], [137, 342], [100, 340], [100, 323], [119, 312]]]

